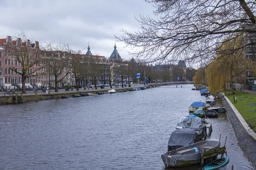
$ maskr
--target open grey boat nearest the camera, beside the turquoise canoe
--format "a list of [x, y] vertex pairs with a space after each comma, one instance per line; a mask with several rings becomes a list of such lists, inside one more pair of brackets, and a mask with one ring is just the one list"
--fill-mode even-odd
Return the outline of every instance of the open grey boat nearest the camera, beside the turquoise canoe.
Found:
[[[207, 152], [219, 148], [219, 139], [209, 139], [206, 141], [196, 142], [175, 150], [171, 150], [161, 155], [166, 167], [186, 167], [193, 164], [201, 164], [202, 152]], [[213, 153], [218, 153], [215, 150]]]

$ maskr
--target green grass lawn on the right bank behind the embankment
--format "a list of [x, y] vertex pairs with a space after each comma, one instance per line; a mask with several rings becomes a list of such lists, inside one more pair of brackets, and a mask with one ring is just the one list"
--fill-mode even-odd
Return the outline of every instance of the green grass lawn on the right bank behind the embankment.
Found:
[[[230, 91], [230, 90], [229, 90]], [[256, 95], [243, 93], [242, 91], [235, 91], [235, 94], [228, 95], [227, 98], [233, 103], [239, 113], [243, 116], [244, 120], [250, 126], [250, 128], [256, 132]], [[236, 96], [237, 103], [234, 103], [234, 96]]]

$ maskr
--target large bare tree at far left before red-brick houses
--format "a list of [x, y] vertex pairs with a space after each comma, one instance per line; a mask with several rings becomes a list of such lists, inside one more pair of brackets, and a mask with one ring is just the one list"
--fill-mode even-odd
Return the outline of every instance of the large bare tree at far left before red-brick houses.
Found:
[[26, 93], [25, 80], [29, 77], [37, 77], [44, 74], [41, 68], [46, 65], [42, 65], [41, 50], [39, 48], [39, 43], [31, 43], [30, 40], [26, 39], [24, 32], [20, 32], [17, 36], [12, 37], [15, 41], [10, 40], [4, 44], [4, 48], [8, 52], [9, 56], [17, 59], [21, 69], [17, 67], [10, 68], [17, 74], [21, 75], [22, 79], [22, 93]]

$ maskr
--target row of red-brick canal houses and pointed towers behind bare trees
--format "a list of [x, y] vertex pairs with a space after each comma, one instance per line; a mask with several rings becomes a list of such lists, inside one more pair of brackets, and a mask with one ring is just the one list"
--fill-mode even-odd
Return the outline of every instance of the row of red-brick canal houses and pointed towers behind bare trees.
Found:
[[[22, 38], [15, 38], [15, 40], [12, 40], [11, 36], [7, 36], [6, 39], [0, 39], [0, 89], [6, 88], [21, 88], [22, 86], [22, 77], [20, 74], [17, 74], [15, 71], [13, 71], [11, 68], [17, 69], [18, 72], [22, 71], [22, 65], [20, 62], [18, 62], [17, 57], [18, 55], [17, 51], [14, 51], [12, 49], [17, 48], [18, 46], [26, 47], [27, 53], [29, 54], [29, 57], [33, 58], [38, 52], [43, 51], [40, 49], [39, 42], [31, 42], [30, 40], [25, 39], [25, 42], [23, 42]], [[14, 48], [12, 48], [14, 47]], [[20, 47], [18, 47], [20, 48]], [[42, 55], [43, 53], [40, 53]], [[115, 65], [115, 60], [121, 60], [122, 58], [119, 55], [119, 53], [116, 50], [116, 44], [114, 46], [114, 50], [111, 54], [111, 56], [107, 59], [104, 56], [98, 56], [93, 55], [90, 51], [90, 46], [88, 44], [87, 53], [86, 54], [79, 54], [83, 55], [82, 57], [89, 57], [99, 64], [109, 65], [113, 66]], [[50, 75], [47, 70], [47, 68], [44, 68], [43, 65], [40, 65], [40, 62], [35, 63], [29, 70], [30, 72], [34, 72], [35, 74], [45, 73], [41, 74], [35, 77], [28, 77], [25, 79], [25, 87], [26, 88], [40, 88], [41, 86], [44, 87], [55, 87], [55, 79], [54, 76]], [[29, 71], [28, 70], [28, 71]], [[66, 70], [63, 71], [59, 77], [65, 76]], [[109, 84], [109, 77], [108, 72], [103, 71], [101, 73], [102, 75], [99, 75], [96, 78], [97, 83], [96, 84]], [[92, 84], [92, 78], [89, 78], [89, 84]], [[74, 79], [74, 76], [71, 73], [67, 74], [67, 76], [63, 79], [63, 81], [58, 82], [58, 87], [61, 87], [64, 85], [76, 85], [76, 81]], [[82, 85], [83, 82], [79, 82], [79, 85]]]

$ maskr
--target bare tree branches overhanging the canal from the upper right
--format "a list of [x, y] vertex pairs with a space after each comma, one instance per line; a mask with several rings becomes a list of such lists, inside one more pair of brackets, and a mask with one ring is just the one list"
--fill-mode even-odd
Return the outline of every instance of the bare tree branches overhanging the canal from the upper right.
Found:
[[[136, 20], [141, 31], [122, 29], [116, 38], [137, 49], [132, 54], [147, 62], [209, 62], [224, 42], [256, 31], [255, 0], [145, 1], [155, 7], [155, 19], [140, 15]], [[239, 48], [254, 43], [255, 39]]]

